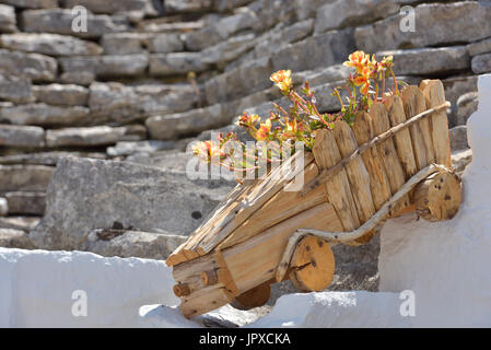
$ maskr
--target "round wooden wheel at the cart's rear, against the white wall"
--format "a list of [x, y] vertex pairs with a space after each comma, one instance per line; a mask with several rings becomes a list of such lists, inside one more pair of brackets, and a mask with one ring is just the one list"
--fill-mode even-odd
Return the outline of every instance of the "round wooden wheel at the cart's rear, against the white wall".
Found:
[[460, 179], [451, 171], [426, 177], [414, 189], [416, 209], [429, 221], [453, 219], [460, 207]]

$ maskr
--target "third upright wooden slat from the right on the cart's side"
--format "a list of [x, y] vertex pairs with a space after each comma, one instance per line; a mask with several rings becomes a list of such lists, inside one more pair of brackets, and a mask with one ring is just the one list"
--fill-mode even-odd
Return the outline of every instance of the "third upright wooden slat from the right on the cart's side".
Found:
[[[402, 100], [397, 95], [385, 96], [385, 107], [388, 113], [390, 126], [395, 127], [407, 120], [404, 110]], [[401, 130], [394, 137], [397, 154], [405, 171], [406, 178], [411, 177], [418, 172], [416, 165], [414, 152], [412, 150], [411, 135], [408, 129]]]

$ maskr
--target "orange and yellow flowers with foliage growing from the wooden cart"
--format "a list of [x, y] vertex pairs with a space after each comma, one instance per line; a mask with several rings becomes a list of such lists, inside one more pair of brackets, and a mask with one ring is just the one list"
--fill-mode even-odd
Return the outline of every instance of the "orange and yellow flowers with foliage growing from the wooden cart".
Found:
[[[377, 61], [375, 55], [370, 56], [363, 51], [355, 51], [348, 57], [343, 65], [354, 68], [354, 72], [347, 79], [346, 101], [342, 100], [340, 86], [336, 88], [331, 94], [339, 101], [339, 113], [319, 113], [314, 91], [308, 82], [304, 83], [299, 93], [293, 89], [292, 72], [280, 70], [272, 73], [270, 80], [288, 98], [290, 106], [273, 104], [274, 109], [266, 119], [256, 114], [244, 113], [238, 117], [236, 124], [257, 141], [266, 143], [274, 141], [280, 148], [285, 145], [289, 150], [293, 150], [292, 144], [301, 141], [307, 149], [312, 149], [315, 130], [323, 128], [331, 130], [335, 121], [340, 119], [352, 125], [358, 110], [367, 110], [373, 102], [382, 101], [385, 95], [387, 78], [394, 79], [394, 93], [398, 94], [398, 82], [393, 71], [391, 56]], [[284, 104], [282, 103], [282, 105]], [[232, 170], [256, 168], [255, 162], [257, 162], [258, 153], [253, 152], [253, 162], [244, 162], [237, 161], [241, 160], [237, 158], [237, 150], [248, 152], [235, 133], [226, 136], [220, 133], [215, 141], [198, 142], [194, 148], [194, 153], [208, 163], [218, 162]], [[272, 161], [269, 151], [262, 155], [266, 155], [268, 162]]]

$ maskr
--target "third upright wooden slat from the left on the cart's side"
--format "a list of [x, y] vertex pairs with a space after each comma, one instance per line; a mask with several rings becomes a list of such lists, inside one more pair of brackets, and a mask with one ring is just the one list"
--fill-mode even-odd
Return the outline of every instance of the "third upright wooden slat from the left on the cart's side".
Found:
[[[354, 138], [359, 145], [362, 145], [373, 138], [372, 118], [365, 112], [358, 113], [352, 127]], [[390, 184], [384, 163], [376, 148], [367, 149], [361, 155], [370, 176], [370, 189], [375, 210], [390, 198]]]

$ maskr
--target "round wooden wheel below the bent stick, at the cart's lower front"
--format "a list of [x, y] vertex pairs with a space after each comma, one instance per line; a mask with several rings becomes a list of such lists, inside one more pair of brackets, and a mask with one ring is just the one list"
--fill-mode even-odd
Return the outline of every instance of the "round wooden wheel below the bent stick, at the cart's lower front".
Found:
[[319, 292], [335, 276], [335, 256], [326, 241], [306, 236], [296, 245], [290, 262], [290, 280], [299, 291]]

